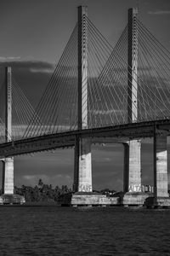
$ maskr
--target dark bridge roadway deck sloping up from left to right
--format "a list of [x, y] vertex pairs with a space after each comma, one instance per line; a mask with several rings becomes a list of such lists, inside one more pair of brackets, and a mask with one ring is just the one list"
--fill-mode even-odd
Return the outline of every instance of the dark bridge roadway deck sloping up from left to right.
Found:
[[0, 144], [0, 156], [3, 158], [55, 148], [70, 148], [74, 147], [77, 137], [88, 137], [92, 143], [123, 143], [135, 138], [154, 137], [155, 132], [160, 135], [170, 135], [170, 119], [99, 127], [81, 131], [65, 131], [39, 137], [22, 138], [13, 142]]

